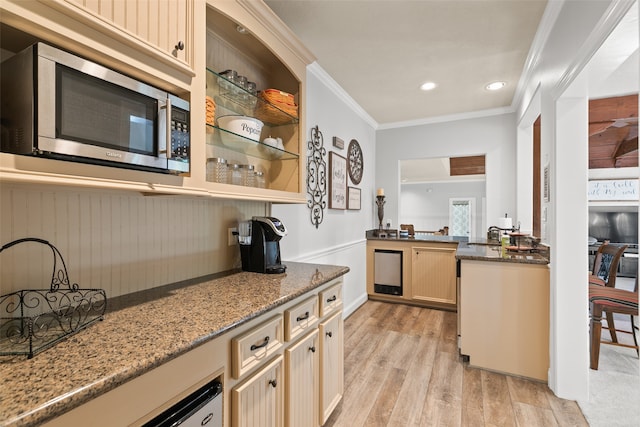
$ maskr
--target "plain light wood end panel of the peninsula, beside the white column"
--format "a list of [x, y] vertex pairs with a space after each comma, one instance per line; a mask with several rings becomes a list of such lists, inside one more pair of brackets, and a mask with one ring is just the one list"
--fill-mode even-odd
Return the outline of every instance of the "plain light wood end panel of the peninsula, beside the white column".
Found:
[[547, 381], [549, 277], [548, 265], [461, 260], [460, 354], [469, 366]]

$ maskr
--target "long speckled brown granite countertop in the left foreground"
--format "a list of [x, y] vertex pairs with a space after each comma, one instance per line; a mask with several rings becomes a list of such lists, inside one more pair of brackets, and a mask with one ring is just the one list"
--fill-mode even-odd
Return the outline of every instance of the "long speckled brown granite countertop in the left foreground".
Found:
[[286, 265], [114, 298], [103, 321], [32, 359], [0, 357], [0, 426], [55, 418], [349, 271]]

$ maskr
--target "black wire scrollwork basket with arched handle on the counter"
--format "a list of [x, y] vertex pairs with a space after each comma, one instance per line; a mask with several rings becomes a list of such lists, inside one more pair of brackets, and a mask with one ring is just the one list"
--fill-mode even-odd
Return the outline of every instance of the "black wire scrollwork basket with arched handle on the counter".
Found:
[[7, 243], [47, 245], [53, 253], [49, 289], [23, 289], [0, 296], [0, 356], [34, 355], [52, 347], [92, 323], [104, 319], [107, 294], [103, 289], [80, 289], [71, 283], [60, 251], [46, 240], [24, 238]]

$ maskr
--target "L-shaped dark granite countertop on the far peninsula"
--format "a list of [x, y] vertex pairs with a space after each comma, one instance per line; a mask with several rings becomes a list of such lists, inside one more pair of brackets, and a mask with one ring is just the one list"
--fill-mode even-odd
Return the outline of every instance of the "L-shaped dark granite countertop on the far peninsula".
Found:
[[[395, 231], [395, 230], [393, 230]], [[378, 230], [367, 230], [367, 240], [390, 241], [390, 242], [422, 242], [422, 243], [455, 243], [458, 245], [456, 259], [467, 259], [475, 261], [495, 261], [511, 262], [520, 264], [549, 264], [549, 248], [540, 245], [536, 252], [517, 252], [502, 250], [497, 241], [484, 238], [474, 238], [469, 240], [463, 236], [440, 236], [432, 234], [416, 233], [412, 237], [399, 237], [391, 234], [391, 237], [379, 237]]]

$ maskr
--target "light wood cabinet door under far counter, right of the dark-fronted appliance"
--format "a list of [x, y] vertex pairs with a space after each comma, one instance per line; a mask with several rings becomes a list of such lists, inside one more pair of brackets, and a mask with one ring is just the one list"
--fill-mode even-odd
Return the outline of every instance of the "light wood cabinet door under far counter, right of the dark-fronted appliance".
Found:
[[412, 298], [455, 304], [456, 248], [414, 247], [412, 252]]

